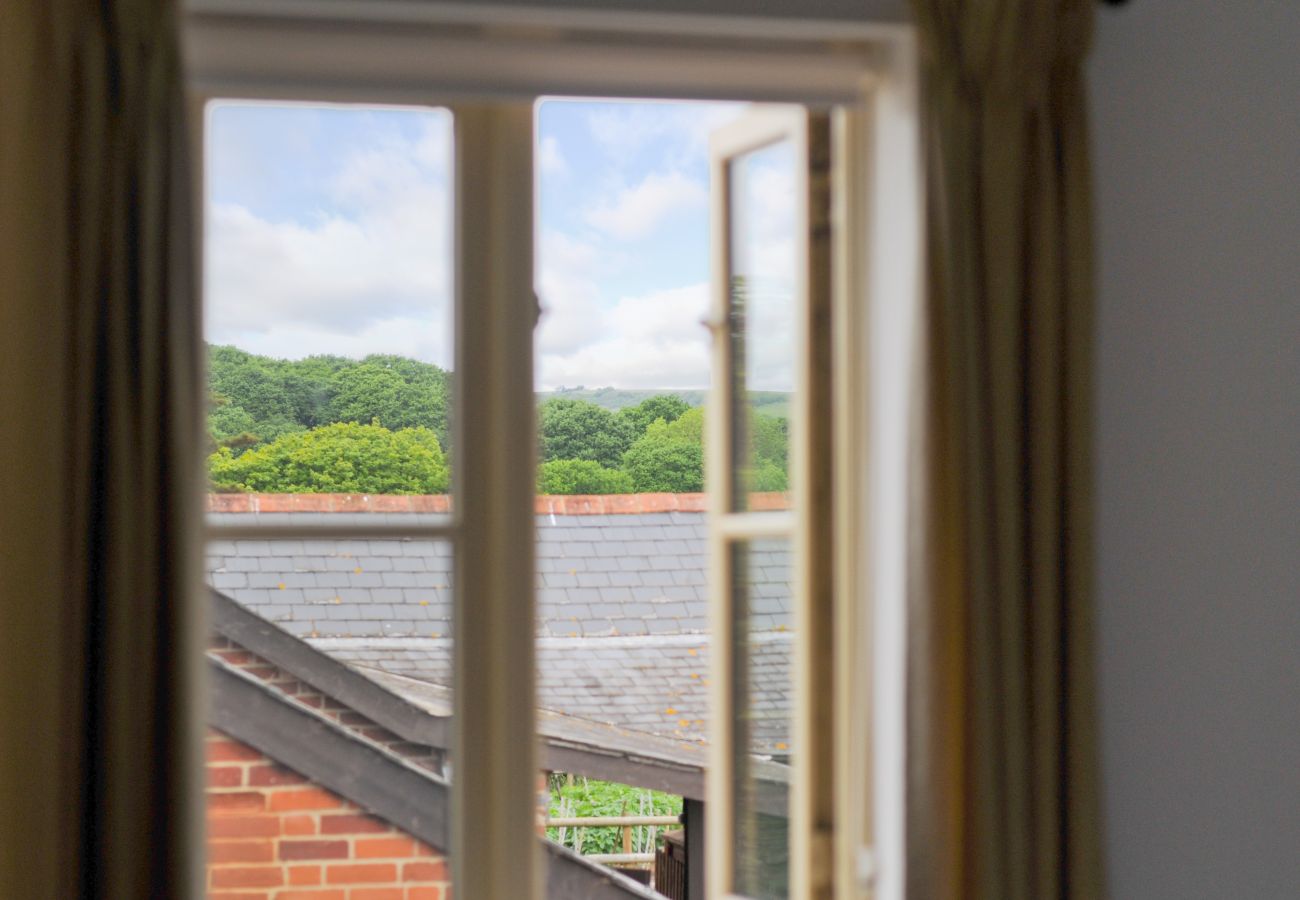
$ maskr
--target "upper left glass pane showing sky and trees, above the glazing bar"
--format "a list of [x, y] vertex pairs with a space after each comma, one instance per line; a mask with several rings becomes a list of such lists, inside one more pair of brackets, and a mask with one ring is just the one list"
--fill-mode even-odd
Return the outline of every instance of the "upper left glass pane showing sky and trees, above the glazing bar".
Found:
[[450, 112], [214, 101], [207, 121], [212, 509], [446, 512]]

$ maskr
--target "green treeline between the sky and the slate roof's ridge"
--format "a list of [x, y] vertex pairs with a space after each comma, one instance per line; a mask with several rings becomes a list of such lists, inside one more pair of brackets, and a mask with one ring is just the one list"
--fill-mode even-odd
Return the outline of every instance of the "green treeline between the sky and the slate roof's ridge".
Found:
[[[208, 471], [218, 492], [443, 493], [451, 375], [403, 356], [278, 360], [209, 347]], [[786, 486], [786, 423], [750, 416], [753, 490]], [[538, 407], [538, 492], [703, 489], [703, 410], [673, 394], [618, 411]]]

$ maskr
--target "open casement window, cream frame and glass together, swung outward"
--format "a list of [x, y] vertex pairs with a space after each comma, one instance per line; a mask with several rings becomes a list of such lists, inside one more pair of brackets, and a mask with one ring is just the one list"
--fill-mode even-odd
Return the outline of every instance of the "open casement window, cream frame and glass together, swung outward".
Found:
[[[831, 116], [755, 107], [711, 157], [710, 896], [831, 897]], [[788, 434], [764, 390], [792, 398]], [[755, 449], [783, 440], [774, 493]]]

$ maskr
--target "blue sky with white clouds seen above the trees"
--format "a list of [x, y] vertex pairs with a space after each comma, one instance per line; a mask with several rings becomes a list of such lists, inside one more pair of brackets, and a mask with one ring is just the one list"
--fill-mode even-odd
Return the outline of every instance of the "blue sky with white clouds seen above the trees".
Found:
[[[707, 386], [708, 135], [742, 112], [538, 104], [540, 389]], [[442, 109], [214, 104], [208, 339], [286, 359], [395, 352], [451, 368], [451, 127]], [[737, 269], [751, 285], [788, 284], [783, 151], [733, 176]], [[750, 294], [750, 386], [788, 389], [785, 291]]]

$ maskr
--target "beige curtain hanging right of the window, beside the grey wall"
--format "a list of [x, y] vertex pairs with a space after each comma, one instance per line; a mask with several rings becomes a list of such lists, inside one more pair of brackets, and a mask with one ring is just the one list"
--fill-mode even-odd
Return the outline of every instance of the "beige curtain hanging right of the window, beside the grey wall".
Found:
[[911, 546], [910, 897], [1098, 897], [1095, 0], [914, 0], [928, 297]]

